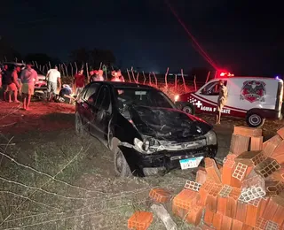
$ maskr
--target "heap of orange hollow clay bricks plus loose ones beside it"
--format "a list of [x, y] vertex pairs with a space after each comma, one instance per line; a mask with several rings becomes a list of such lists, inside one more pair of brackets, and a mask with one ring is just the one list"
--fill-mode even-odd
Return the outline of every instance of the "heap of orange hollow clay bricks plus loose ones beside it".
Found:
[[[186, 180], [172, 199], [173, 214], [197, 229], [284, 230], [284, 127], [263, 141], [262, 129], [235, 126], [223, 167], [205, 158], [196, 180]], [[159, 203], [171, 200], [162, 188], [149, 196]], [[130, 222], [129, 228], [146, 229]]]

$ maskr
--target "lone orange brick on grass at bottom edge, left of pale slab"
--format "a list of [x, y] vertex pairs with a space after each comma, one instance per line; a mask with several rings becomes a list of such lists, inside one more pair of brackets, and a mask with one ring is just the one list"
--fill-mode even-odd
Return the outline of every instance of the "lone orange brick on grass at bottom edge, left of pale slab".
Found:
[[153, 213], [149, 211], [136, 211], [128, 220], [128, 228], [146, 230], [153, 221]]

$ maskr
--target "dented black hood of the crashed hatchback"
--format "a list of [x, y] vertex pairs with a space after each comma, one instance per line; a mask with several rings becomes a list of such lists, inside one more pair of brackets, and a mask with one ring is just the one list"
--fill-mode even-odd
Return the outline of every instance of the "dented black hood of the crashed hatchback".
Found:
[[132, 105], [129, 111], [138, 132], [158, 140], [185, 142], [211, 129], [201, 119], [175, 109]]

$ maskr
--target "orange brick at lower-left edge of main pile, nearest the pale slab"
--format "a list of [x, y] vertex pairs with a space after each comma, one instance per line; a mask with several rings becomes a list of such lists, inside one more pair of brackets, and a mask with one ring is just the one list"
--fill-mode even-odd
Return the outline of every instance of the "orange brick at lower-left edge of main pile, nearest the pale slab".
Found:
[[172, 211], [174, 214], [184, 219], [187, 212], [190, 211], [193, 205], [196, 205], [200, 195], [189, 189], [183, 189], [172, 202]]

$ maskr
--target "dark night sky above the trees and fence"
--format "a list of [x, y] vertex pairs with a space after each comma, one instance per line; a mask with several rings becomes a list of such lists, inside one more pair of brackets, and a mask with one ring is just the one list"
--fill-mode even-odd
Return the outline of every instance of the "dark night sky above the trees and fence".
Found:
[[[233, 73], [284, 74], [280, 1], [170, 0], [218, 66]], [[209, 66], [164, 0], [5, 1], [1, 35], [16, 50], [68, 60], [80, 47], [109, 49], [122, 67], [164, 73]]]

